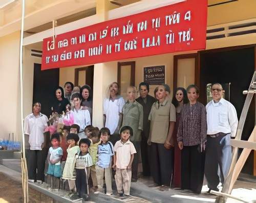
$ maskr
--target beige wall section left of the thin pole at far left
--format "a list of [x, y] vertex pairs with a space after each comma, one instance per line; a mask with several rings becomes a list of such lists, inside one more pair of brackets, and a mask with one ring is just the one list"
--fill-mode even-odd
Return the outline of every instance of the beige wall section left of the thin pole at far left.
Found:
[[0, 138], [20, 140], [19, 32], [0, 37]]

